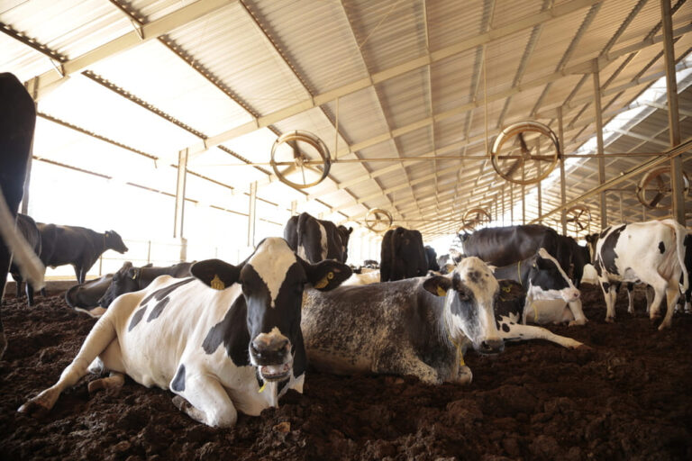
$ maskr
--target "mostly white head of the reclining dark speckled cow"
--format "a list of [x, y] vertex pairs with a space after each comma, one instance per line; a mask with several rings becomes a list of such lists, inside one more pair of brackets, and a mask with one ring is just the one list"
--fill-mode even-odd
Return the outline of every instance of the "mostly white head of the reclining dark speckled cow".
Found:
[[423, 282], [423, 287], [445, 297], [443, 318], [452, 340], [466, 337], [481, 354], [504, 350], [505, 343], [495, 322], [499, 285], [483, 261], [464, 258], [451, 276], [433, 276]]

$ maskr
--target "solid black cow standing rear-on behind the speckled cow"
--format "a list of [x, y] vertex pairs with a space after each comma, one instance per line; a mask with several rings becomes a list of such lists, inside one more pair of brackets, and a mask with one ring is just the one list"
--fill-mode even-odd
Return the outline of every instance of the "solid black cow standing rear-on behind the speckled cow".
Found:
[[403, 227], [387, 230], [382, 239], [379, 267], [382, 282], [427, 274], [428, 261], [421, 232]]

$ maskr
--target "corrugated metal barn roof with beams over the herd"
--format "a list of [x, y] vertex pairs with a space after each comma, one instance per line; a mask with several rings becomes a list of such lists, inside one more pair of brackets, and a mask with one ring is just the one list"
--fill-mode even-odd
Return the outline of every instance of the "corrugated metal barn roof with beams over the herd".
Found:
[[[591, 59], [607, 57], [599, 75], [605, 122], [623, 113], [663, 70], [660, 42], [643, 42], [653, 32], [660, 36], [660, 5], [637, 0], [235, 1], [214, 5], [197, 19], [187, 16], [187, 23], [181, 20], [160, 40], [117, 52], [102, 47], [132, 33], [138, 22], [212, 1], [0, 5], [0, 66], [25, 81], [56, 76], [59, 60], [96, 50], [94, 62], [68, 70], [67, 83], [52, 92], [44, 94], [39, 81], [39, 110], [64, 123], [41, 119], [36, 155], [138, 184], [150, 177], [151, 187], [168, 192], [175, 168], [157, 168], [149, 158], [78, 130], [168, 165], [176, 163], [179, 150], [193, 148], [189, 169], [197, 176], [189, 194], [196, 201], [242, 206], [250, 182], [258, 181], [259, 196], [278, 203], [276, 219], [284, 219], [292, 202], [298, 211], [343, 221], [361, 221], [369, 207], [378, 206], [392, 212], [396, 223], [419, 227], [431, 238], [458, 229], [459, 221], [447, 220], [508, 195], [509, 183], [487, 158], [462, 159], [485, 157], [486, 142], [501, 127], [537, 119], [557, 131], [561, 108], [566, 154], [593, 137]], [[549, 8], [551, 14], [539, 15]], [[692, 50], [692, 6], [679, 3], [672, 19], [674, 28], [684, 29], [675, 46], [680, 59]], [[622, 54], [624, 47], [633, 48]], [[85, 69], [87, 77], [80, 75]], [[690, 105], [689, 93], [686, 88], [680, 95], [683, 109]], [[683, 111], [681, 119], [687, 139], [689, 113]], [[294, 130], [313, 132], [335, 159], [329, 179], [303, 191], [268, 175], [272, 144]], [[607, 152], [661, 151], [667, 114], [652, 108], [635, 122], [607, 130]], [[205, 137], [221, 148], [198, 152]], [[288, 146], [281, 151], [292, 156]], [[303, 153], [316, 158], [308, 149]], [[431, 158], [397, 161], [419, 156]], [[608, 158], [606, 178], [644, 159]], [[596, 158], [582, 158], [569, 167], [568, 200], [597, 184], [596, 166]], [[629, 191], [625, 219], [642, 215], [633, 197], [635, 182], [619, 187]], [[542, 187], [545, 212], [560, 204], [560, 187], [551, 180]], [[512, 189], [516, 202], [520, 186]], [[527, 216], [537, 216], [535, 186], [524, 189]], [[619, 193], [608, 197], [608, 212], [619, 215]], [[596, 227], [596, 200], [584, 202], [593, 205]]]

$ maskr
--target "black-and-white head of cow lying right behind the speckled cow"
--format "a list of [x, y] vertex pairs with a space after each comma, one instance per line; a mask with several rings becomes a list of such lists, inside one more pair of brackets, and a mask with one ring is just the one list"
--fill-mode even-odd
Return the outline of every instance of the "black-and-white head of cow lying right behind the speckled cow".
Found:
[[[572, 284], [557, 259], [545, 249], [532, 258], [524, 259], [528, 276], [522, 274], [526, 292], [533, 299], [563, 299], [567, 303], [579, 299], [579, 290]], [[520, 266], [521, 270], [521, 266]], [[524, 271], [522, 271], [524, 272]]]

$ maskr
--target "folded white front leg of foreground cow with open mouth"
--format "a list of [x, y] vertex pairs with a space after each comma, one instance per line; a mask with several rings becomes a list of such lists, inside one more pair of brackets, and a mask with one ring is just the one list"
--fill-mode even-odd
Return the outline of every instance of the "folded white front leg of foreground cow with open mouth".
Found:
[[[179, 385], [179, 384], [178, 384]], [[173, 404], [187, 416], [214, 428], [231, 428], [238, 411], [223, 385], [210, 375], [187, 375]]]

